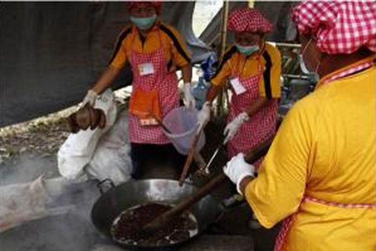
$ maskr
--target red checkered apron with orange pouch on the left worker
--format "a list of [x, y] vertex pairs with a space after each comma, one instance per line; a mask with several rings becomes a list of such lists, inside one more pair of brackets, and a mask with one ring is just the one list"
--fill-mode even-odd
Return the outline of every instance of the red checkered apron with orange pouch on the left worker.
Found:
[[[134, 41], [133, 37], [133, 41]], [[133, 43], [134, 44], [134, 43]], [[143, 91], [158, 90], [162, 117], [178, 107], [177, 76], [168, 72], [163, 43], [159, 34], [159, 49], [151, 53], [137, 53], [131, 49], [130, 63], [133, 72], [132, 88]], [[141, 76], [138, 65], [152, 63], [154, 73]], [[141, 126], [137, 116], [129, 114], [129, 140], [132, 143], [168, 144], [170, 141], [159, 126]]]

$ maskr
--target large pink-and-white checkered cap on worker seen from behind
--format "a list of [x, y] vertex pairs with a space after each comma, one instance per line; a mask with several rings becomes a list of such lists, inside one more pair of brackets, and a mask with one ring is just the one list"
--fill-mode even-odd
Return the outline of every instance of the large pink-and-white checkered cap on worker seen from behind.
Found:
[[376, 2], [330, 1], [302, 3], [292, 10], [300, 34], [317, 38], [327, 54], [350, 54], [365, 46], [376, 52]]

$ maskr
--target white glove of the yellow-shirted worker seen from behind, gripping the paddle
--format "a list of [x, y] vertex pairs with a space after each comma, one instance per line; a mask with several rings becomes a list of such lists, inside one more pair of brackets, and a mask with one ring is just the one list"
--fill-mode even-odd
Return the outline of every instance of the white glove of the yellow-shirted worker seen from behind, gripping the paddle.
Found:
[[243, 153], [239, 153], [227, 162], [223, 172], [236, 184], [236, 189], [241, 195], [243, 193], [240, 191], [240, 182], [247, 176], [255, 177], [255, 167], [245, 162]]

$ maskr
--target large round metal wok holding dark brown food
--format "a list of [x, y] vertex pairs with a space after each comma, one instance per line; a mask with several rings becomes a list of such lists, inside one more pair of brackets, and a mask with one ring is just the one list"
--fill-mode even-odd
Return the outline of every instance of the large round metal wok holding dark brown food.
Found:
[[[177, 204], [197, 190], [197, 187], [190, 184], [179, 186], [178, 181], [175, 180], [149, 179], [126, 182], [119, 186], [110, 188], [100, 196], [92, 208], [91, 219], [100, 232], [118, 245], [126, 248], [135, 247], [112, 239], [110, 234], [111, 225], [114, 219], [119, 216], [122, 211], [135, 205], [151, 202], [172, 205]], [[197, 202], [192, 206], [190, 211], [198, 221], [198, 234], [202, 233], [209, 223], [215, 221], [220, 213], [217, 202], [210, 195], [207, 195], [205, 198]], [[194, 237], [195, 236], [192, 238]], [[182, 242], [178, 242], [174, 245], [181, 244]], [[167, 246], [171, 245], [166, 245], [164, 247]], [[161, 247], [163, 246], [158, 246], [158, 248]]]

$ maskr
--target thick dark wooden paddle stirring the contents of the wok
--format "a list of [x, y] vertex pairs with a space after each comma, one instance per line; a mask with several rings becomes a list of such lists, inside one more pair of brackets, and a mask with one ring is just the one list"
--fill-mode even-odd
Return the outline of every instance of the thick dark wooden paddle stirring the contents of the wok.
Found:
[[[263, 142], [259, 147], [257, 147], [254, 151], [250, 152], [245, 156], [245, 160], [248, 163], [253, 163], [257, 161], [259, 158], [264, 156], [271, 145], [272, 140], [268, 140]], [[207, 184], [205, 184], [202, 188], [200, 188], [197, 192], [195, 192], [193, 195], [189, 196], [185, 200], [179, 202], [175, 207], [172, 209], [162, 213], [160, 216], [156, 217], [149, 223], [147, 223], [144, 227], [142, 227], [143, 231], [154, 231], [168, 222], [170, 222], [172, 219], [174, 219], [176, 216], [180, 215], [185, 210], [189, 209], [193, 204], [195, 204], [197, 201], [201, 200], [203, 197], [208, 195], [212, 190], [214, 190], [219, 184], [221, 184], [225, 179], [226, 175], [221, 172], [219, 175], [211, 179]]]

